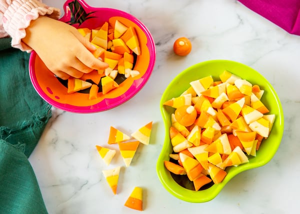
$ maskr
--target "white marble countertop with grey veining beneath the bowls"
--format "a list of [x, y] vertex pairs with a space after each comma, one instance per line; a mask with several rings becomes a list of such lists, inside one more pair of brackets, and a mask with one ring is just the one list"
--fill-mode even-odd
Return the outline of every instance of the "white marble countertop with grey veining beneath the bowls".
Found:
[[[60, 0], [44, 0], [62, 9]], [[300, 36], [291, 35], [236, 0], [86, 0], [94, 7], [131, 13], [150, 30], [156, 63], [146, 85], [113, 109], [76, 114], [52, 109], [29, 157], [49, 213], [137, 213], [123, 204], [134, 186], [144, 188], [143, 213], [295, 213], [300, 190]], [[173, 41], [190, 38], [186, 57], [174, 55]], [[161, 94], [180, 71], [210, 59], [235, 60], [259, 71], [276, 90], [284, 111], [279, 149], [266, 165], [235, 176], [211, 201], [189, 203], [167, 192], [155, 165], [164, 128]], [[131, 133], [153, 121], [149, 145], [140, 145], [131, 165], [121, 171], [113, 195], [95, 145], [107, 142], [109, 126]], [[120, 155], [114, 165], [124, 166]]]

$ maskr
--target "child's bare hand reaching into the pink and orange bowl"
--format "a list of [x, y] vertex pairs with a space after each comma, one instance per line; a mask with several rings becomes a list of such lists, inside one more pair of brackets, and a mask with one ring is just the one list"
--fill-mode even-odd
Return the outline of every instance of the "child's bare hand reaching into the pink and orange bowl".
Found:
[[76, 28], [47, 16], [32, 20], [22, 41], [62, 79], [69, 76], [79, 78], [83, 73], [108, 66], [92, 55], [90, 51], [95, 47]]

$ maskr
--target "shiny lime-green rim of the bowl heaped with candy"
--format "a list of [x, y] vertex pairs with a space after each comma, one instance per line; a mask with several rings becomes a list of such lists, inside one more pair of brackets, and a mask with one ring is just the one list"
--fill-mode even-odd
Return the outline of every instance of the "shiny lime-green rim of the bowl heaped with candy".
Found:
[[[163, 165], [163, 160], [165, 160], [165, 157], [166, 157], [166, 155], [163, 155], [163, 154], [165, 154], [169, 150], [168, 148], [171, 148], [170, 145], [168, 145], [170, 143], [170, 139], [169, 139], [169, 126], [170, 126], [170, 123], [167, 121], [167, 120], [169, 120], [169, 118], [167, 118], [168, 113], [166, 112], [166, 110], [163, 106], [163, 103], [167, 99], [172, 98], [172, 97], [167, 97], [167, 91], [170, 90], [170, 88], [172, 88], [172, 86], [176, 82], [178, 82], [178, 79], [182, 78], [186, 73], [191, 72], [191, 70], [193, 70], [195, 68], [199, 68], [201, 66], [205, 66], [207, 64], [214, 64], [214, 63], [228, 63], [228, 64], [234, 64], [234, 65], [237, 65], [237, 66], [242, 66], [246, 69], [251, 70], [255, 75], [259, 76], [265, 82], [265, 84], [268, 86], [268, 88], [272, 92], [272, 96], [274, 97], [274, 100], [276, 101], [277, 108], [278, 108], [278, 116], [276, 117], [275, 120], [278, 120], [277, 122], [279, 122], [280, 129], [279, 129], [279, 132], [276, 132], [276, 136], [278, 138], [278, 141], [275, 144], [275, 146], [273, 147], [272, 153], [271, 153], [271, 155], [268, 156], [268, 158], [263, 159], [259, 162], [251, 163], [251, 164], [246, 163], [246, 164], [239, 165], [238, 166], [239, 169], [235, 170], [235, 171], [232, 171], [229, 176], [227, 174], [227, 176], [224, 178], [224, 180], [221, 183], [213, 184], [211, 186], [211, 187], [213, 187], [212, 192], [211, 192], [211, 187], [209, 187], [207, 189], [204, 189], [204, 190], [194, 191], [194, 190], [186, 189], [186, 188], [180, 186], [178, 183], [176, 183], [176, 181], [174, 181], [173, 178], [171, 177], [170, 172], [168, 172], [165, 169], [164, 165]], [[232, 72], [232, 73], [234, 73], [234, 72]], [[183, 92], [183, 91], [181, 91], [181, 92]], [[159, 107], [160, 107], [161, 116], [163, 118], [165, 136], [164, 136], [164, 142], [163, 142], [161, 151], [159, 153], [159, 156], [158, 156], [158, 159], [157, 159], [157, 162], [156, 162], [156, 173], [157, 173], [158, 179], [160, 180], [161, 184], [163, 185], [163, 187], [169, 193], [171, 193], [173, 196], [175, 196], [175, 197], [177, 197], [181, 200], [187, 201], [187, 202], [207, 202], [207, 201], [210, 201], [214, 197], [217, 196], [217, 194], [226, 185], [226, 183], [229, 180], [231, 180], [235, 175], [241, 173], [242, 171], [252, 169], [252, 168], [256, 168], [256, 167], [262, 166], [262, 165], [266, 164], [267, 162], [269, 162], [271, 160], [271, 158], [274, 156], [274, 154], [276, 153], [276, 151], [279, 147], [279, 144], [281, 142], [282, 135], [283, 135], [283, 129], [284, 129], [283, 128], [284, 127], [283, 110], [282, 110], [282, 106], [281, 106], [279, 97], [278, 97], [277, 93], [275, 92], [274, 88], [272, 87], [272, 85], [258, 71], [254, 70], [250, 66], [247, 66], [247, 65], [242, 64], [240, 62], [236, 62], [236, 61], [232, 61], [232, 60], [212, 59], [212, 60], [202, 61], [202, 62], [193, 64], [193, 65], [187, 67], [186, 69], [181, 71], [179, 74], [177, 74], [169, 82], [169, 84], [167, 85], [167, 87], [165, 88], [165, 90], [164, 90], [164, 92], [161, 96]], [[168, 179], [170, 182], [167, 182], [165, 179]], [[182, 191], [188, 192], [188, 194], [183, 195]]]

